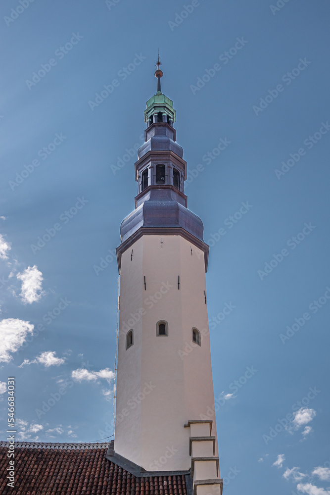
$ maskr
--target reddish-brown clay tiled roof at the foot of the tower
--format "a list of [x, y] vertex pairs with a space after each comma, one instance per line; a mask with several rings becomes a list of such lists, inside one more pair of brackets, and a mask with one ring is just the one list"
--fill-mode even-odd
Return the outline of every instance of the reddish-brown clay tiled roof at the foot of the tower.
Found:
[[105, 458], [109, 444], [15, 443], [15, 488], [7, 486], [8, 442], [0, 442], [1, 495], [187, 495], [184, 475], [136, 478]]

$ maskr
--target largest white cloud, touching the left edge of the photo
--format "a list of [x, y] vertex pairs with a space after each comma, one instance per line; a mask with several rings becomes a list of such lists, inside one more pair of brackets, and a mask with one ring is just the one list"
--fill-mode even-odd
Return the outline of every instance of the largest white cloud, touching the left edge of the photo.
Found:
[[0, 321], [0, 362], [9, 363], [12, 353], [22, 346], [34, 325], [27, 321], [7, 318]]

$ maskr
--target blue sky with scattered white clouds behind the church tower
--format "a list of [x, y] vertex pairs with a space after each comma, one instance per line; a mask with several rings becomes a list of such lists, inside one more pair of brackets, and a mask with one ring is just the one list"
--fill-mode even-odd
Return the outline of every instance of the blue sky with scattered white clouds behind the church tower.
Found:
[[19, 438], [112, 434], [111, 253], [159, 47], [211, 246], [225, 493], [329, 494], [329, 2], [20, 5], [0, 8], [1, 382], [16, 380]]

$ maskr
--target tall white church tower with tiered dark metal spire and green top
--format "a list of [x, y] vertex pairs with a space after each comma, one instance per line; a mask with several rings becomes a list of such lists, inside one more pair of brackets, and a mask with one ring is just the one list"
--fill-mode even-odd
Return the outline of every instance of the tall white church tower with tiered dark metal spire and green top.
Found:
[[173, 101], [146, 103], [135, 209], [117, 248], [120, 318], [115, 440], [107, 458], [136, 476], [191, 476], [195, 495], [220, 495], [203, 223], [187, 208], [187, 163]]

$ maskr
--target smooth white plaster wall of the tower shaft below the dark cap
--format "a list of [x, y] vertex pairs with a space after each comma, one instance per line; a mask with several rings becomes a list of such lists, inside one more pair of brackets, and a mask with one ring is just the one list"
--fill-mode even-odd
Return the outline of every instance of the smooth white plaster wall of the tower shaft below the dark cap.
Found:
[[[122, 255], [115, 452], [148, 471], [188, 470], [191, 433], [184, 424], [214, 404], [204, 254], [181, 236], [163, 236], [163, 247], [161, 238], [139, 239], [132, 261], [132, 247]], [[169, 335], [156, 336], [163, 319]], [[201, 346], [192, 343], [192, 327], [205, 329]], [[134, 345], [126, 350], [129, 328]]]

